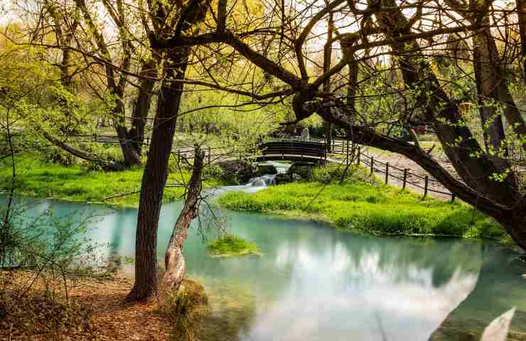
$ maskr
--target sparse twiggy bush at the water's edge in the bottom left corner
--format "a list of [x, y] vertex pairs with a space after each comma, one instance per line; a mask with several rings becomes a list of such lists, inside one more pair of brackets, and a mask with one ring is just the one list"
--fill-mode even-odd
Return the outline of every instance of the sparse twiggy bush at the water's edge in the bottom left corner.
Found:
[[88, 329], [90, 307], [71, 301], [68, 291], [75, 278], [102, 269], [97, 246], [83, 237], [92, 217], [58, 218], [50, 210], [31, 217], [23, 205], [0, 216], [0, 315], [6, 323], [16, 335]]

